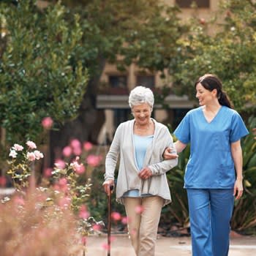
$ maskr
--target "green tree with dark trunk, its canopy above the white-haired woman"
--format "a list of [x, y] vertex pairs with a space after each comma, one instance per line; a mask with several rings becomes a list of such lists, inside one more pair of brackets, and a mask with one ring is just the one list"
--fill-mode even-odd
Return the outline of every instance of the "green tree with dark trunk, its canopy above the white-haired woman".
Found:
[[83, 42], [88, 47], [80, 51], [80, 56], [89, 68], [90, 80], [78, 118], [52, 132], [52, 149], [66, 146], [71, 136], [97, 143], [105, 114], [96, 109], [96, 102], [99, 78], [107, 62], [121, 70], [135, 61], [141, 69], [163, 71], [176, 54], [178, 38], [187, 29], [178, 18], [178, 8], [159, 1], [62, 2], [70, 8], [70, 14], [79, 13], [83, 20]]

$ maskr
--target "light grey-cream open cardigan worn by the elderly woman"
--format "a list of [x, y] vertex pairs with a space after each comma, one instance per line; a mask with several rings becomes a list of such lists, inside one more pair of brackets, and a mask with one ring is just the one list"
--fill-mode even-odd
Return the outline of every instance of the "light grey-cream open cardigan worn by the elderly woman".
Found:
[[165, 148], [172, 148], [172, 153], [176, 153], [173, 146], [173, 138], [167, 127], [154, 121], [154, 138], [148, 146], [144, 159], [144, 166], [149, 167], [153, 176], [146, 180], [139, 178], [138, 167], [135, 163], [135, 148], [133, 142], [133, 127], [135, 119], [121, 123], [117, 129], [111, 143], [110, 150], [105, 161], [105, 181], [115, 178], [116, 164], [120, 155], [118, 178], [116, 184], [116, 200], [123, 203], [124, 192], [130, 189], [139, 189], [139, 195], [151, 194], [164, 198], [164, 206], [171, 202], [170, 189], [168, 187], [165, 173], [178, 164], [178, 159], [164, 160], [162, 158]]

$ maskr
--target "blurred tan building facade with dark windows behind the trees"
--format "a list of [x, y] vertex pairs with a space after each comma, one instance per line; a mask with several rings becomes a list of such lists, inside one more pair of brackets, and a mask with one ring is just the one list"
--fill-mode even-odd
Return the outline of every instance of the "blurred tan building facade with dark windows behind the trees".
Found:
[[[162, 0], [165, 4], [178, 4], [181, 8], [181, 20], [187, 20], [195, 15], [192, 3], [197, 4], [198, 9], [196, 15], [198, 18], [207, 20], [212, 12], [218, 9], [219, 0]], [[102, 83], [102, 91], [97, 96], [97, 108], [105, 111], [105, 124], [103, 125], [98, 138], [98, 143], [113, 139], [114, 132], [118, 124], [131, 118], [128, 105], [129, 91], [135, 86], [146, 86], [152, 90], [157, 90], [162, 86], [170, 86], [168, 75], [165, 80], [160, 78], [159, 73], [140, 73], [140, 69], [135, 64], [131, 64], [127, 68], [127, 72], [119, 72], [115, 65], [107, 64], [102, 73], [100, 83]], [[166, 98], [167, 109], [161, 108], [159, 105], [154, 106], [153, 117], [163, 124], [170, 124], [174, 129], [178, 125], [181, 118], [188, 110], [195, 107], [195, 102], [189, 101], [184, 97], [177, 97], [170, 94]]]

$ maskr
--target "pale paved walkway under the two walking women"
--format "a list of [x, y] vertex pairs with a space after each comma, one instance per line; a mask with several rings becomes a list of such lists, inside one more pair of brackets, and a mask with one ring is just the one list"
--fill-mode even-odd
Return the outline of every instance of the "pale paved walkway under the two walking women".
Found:
[[[107, 256], [107, 236], [89, 236], [86, 256]], [[192, 256], [188, 237], [166, 238], [159, 236], [155, 256]], [[256, 237], [231, 238], [228, 256], [255, 256]], [[111, 256], [135, 256], [127, 235], [113, 235]]]

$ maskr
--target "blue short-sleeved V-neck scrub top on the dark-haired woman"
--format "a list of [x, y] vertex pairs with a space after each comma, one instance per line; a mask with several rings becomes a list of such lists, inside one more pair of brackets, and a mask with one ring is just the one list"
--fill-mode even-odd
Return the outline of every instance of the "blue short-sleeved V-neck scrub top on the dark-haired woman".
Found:
[[203, 107], [190, 110], [174, 131], [182, 143], [190, 143], [190, 157], [184, 187], [195, 189], [232, 189], [236, 172], [230, 144], [249, 132], [241, 116], [222, 106], [208, 123]]

